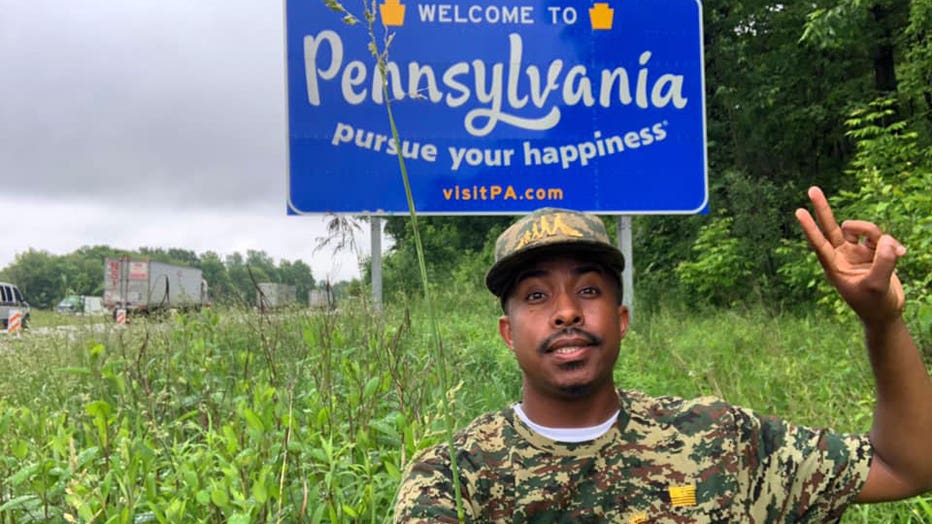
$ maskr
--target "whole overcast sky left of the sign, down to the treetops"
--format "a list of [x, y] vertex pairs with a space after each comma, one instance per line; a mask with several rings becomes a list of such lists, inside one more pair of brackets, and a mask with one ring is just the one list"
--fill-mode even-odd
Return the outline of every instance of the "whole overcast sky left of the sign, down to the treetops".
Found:
[[357, 277], [360, 253], [315, 252], [324, 217], [285, 213], [283, 8], [0, 0], [0, 268], [104, 244]]

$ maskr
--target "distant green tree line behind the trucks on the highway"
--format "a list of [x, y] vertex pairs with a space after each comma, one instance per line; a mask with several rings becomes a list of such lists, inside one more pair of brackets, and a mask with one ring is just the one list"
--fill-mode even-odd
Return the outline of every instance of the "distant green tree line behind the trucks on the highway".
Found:
[[327, 285], [315, 281], [304, 261], [282, 259], [276, 264], [260, 250], [248, 250], [245, 256], [236, 252], [221, 257], [213, 251], [198, 255], [179, 248], [143, 247], [126, 251], [109, 246], [84, 246], [66, 255], [30, 249], [17, 254], [13, 263], [0, 270], [0, 280], [14, 282], [32, 306], [48, 309], [68, 295], [101, 296], [104, 258], [121, 256], [200, 268], [214, 304], [253, 306], [258, 282], [293, 285], [298, 303], [307, 304], [310, 290]]

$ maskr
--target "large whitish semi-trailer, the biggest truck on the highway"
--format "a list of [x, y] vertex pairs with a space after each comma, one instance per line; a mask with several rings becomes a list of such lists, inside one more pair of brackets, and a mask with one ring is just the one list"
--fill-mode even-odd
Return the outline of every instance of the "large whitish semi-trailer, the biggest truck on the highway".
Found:
[[142, 313], [209, 305], [200, 269], [127, 257], [104, 259], [104, 307], [108, 310]]

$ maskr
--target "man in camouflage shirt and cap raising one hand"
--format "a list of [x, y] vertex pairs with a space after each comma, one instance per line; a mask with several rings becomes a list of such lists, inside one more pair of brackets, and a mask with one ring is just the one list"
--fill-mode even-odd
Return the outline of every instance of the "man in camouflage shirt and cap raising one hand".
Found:
[[[901, 312], [905, 249], [841, 227], [818, 188], [797, 219], [860, 317], [877, 405], [868, 435], [794, 426], [717, 399], [616, 389], [624, 260], [597, 217], [544, 209], [498, 239], [486, 284], [523, 376], [520, 404], [457, 434], [467, 522], [835, 522], [852, 502], [932, 489], [932, 380]], [[821, 227], [820, 227], [821, 226]], [[449, 448], [418, 457], [398, 522], [456, 522]]]

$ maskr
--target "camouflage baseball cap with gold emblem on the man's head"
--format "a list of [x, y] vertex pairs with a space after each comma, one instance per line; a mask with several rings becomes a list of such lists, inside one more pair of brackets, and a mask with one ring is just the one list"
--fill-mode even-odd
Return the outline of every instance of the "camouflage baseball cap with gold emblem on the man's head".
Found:
[[518, 270], [541, 256], [554, 255], [579, 255], [617, 273], [625, 267], [625, 259], [608, 238], [602, 219], [545, 207], [522, 217], [499, 235], [495, 263], [485, 275], [485, 285], [504, 300]]

